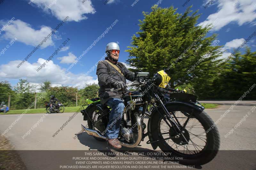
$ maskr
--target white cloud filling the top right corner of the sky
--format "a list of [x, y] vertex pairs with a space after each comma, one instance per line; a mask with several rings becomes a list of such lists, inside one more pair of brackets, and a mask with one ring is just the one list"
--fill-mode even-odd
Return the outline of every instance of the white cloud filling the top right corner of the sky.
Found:
[[239, 0], [233, 5], [234, 0], [218, 0], [218, 11], [209, 15], [199, 26], [212, 24], [217, 18], [219, 21], [213, 26], [213, 31], [218, 31], [231, 22], [236, 22], [239, 26], [251, 23], [256, 18], [254, 0]]

